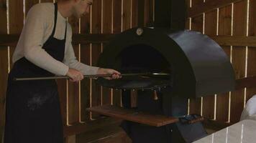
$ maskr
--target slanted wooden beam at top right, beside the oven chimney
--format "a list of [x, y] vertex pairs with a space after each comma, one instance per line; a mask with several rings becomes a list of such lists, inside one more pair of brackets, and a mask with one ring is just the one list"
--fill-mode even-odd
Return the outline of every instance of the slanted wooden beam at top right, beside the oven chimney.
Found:
[[205, 3], [197, 4], [192, 8], [188, 9], [188, 17], [197, 16], [204, 12], [212, 11], [214, 9], [227, 6], [229, 4], [242, 1], [242, 0], [214, 0], [214, 1], [206, 1]]

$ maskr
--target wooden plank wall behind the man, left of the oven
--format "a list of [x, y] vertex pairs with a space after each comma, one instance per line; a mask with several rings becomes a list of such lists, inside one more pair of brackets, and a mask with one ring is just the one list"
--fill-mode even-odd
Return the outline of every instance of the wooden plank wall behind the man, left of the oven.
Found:
[[[69, 17], [73, 34], [118, 34], [138, 24], [139, 0], [94, 0], [90, 14], [81, 19]], [[20, 34], [24, 17], [29, 9], [42, 2], [54, 0], [0, 0], [0, 34]], [[145, 26], [152, 26], [154, 0], [145, 0]], [[104, 50], [105, 44], [73, 44], [79, 61], [96, 66], [97, 59]], [[6, 80], [9, 69], [12, 68], [14, 46], [0, 47], [0, 142], [4, 130]], [[102, 104], [122, 106], [120, 90], [106, 89], [96, 85], [93, 79], [84, 79], [79, 83], [58, 80], [60, 104], [63, 115], [63, 125], [68, 135], [83, 132], [87, 122], [97, 121], [99, 115], [86, 112], [87, 107]], [[132, 104], [136, 106], [136, 92], [132, 92]], [[101, 118], [101, 117], [100, 117]], [[102, 123], [107, 124], [107, 123]], [[93, 127], [92, 127], [93, 128]], [[78, 131], [79, 130], [79, 131]], [[76, 137], [70, 137], [68, 142], [74, 142]], [[72, 140], [72, 141], [70, 141]]]

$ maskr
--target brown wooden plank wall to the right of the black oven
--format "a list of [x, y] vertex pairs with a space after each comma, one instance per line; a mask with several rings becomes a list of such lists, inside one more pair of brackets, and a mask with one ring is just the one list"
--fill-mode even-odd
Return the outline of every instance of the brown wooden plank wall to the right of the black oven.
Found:
[[[235, 43], [232, 37], [255, 36], [255, 0], [191, 0], [188, 1], [187, 29], [201, 31], [211, 37], [231, 36], [230, 45], [221, 47], [229, 56], [236, 79], [256, 75], [255, 47]], [[198, 8], [201, 9], [198, 9]], [[217, 122], [239, 121], [245, 103], [256, 94], [256, 87], [237, 89], [234, 92], [215, 94], [201, 99], [190, 99], [189, 113], [202, 114]]]

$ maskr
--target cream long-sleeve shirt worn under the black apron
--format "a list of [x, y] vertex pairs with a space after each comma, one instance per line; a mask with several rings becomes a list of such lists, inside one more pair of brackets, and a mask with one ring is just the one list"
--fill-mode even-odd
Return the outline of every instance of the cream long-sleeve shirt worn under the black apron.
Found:
[[[64, 39], [66, 19], [58, 12], [54, 37]], [[67, 22], [68, 23], [68, 22]], [[33, 64], [52, 74], [65, 75], [69, 68], [77, 69], [83, 74], [96, 74], [99, 67], [82, 64], [76, 59], [73, 51], [72, 28], [67, 24], [67, 36], [65, 41], [65, 56], [63, 62], [55, 60], [47, 54], [42, 45], [52, 34], [54, 26], [54, 4], [42, 3], [32, 6], [19, 36], [17, 47], [12, 57], [13, 63], [25, 57]]]

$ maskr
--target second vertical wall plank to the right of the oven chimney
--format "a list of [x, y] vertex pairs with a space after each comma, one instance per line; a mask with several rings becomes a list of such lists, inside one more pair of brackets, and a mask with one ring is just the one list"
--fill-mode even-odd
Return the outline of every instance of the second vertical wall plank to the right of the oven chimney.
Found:
[[[217, 10], [205, 14], [205, 34], [216, 35]], [[214, 119], [214, 95], [204, 97], [203, 116], [208, 119]]]

